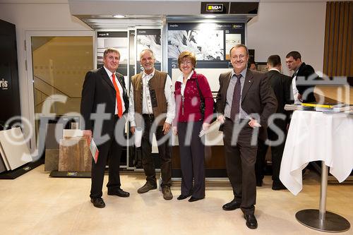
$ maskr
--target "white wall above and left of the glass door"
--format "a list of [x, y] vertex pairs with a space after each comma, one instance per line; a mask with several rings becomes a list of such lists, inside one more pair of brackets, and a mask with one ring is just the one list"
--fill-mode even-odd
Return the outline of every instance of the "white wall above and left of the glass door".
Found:
[[[16, 25], [18, 76], [20, 79], [21, 116], [30, 119], [28, 86], [32, 85], [25, 70], [25, 31], [28, 30], [92, 30], [71, 16], [67, 3], [0, 4], [0, 19]], [[28, 130], [25, 129], [25, 134]], [[32, 143], [33, 144], [33, 143]]]

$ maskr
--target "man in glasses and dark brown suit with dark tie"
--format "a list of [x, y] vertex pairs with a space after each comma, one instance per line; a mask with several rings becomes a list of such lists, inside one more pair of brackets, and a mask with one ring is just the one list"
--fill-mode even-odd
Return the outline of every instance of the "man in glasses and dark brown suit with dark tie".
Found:
[[[223, 210], [241, 208], [246, 226], [256, 229], [255, 162], [258, 132], [265, 139], [268, 117], [276, 111], [277, 101], [265, 74], [246, 68], [249, 52], [243, 44], [229, 51], [233, 70], [220, 75], [217, 93], [217, 117], [223, 123], [225, 162], [234, 199]], [[255, 138], [254, 138], [255, 137]]]

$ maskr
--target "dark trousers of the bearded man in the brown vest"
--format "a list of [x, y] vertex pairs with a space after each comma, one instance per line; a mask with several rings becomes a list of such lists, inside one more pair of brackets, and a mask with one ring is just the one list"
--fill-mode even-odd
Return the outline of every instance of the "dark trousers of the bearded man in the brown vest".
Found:
[[[141, 150], [142, 150], [142, 165], [143, 171], [145, 171], [146, 181], [152, 185], [157, 185], [155, 179], [155, 164], [152, 159], [152, 140], [150, 140], [150, 129], [154, 118], [152, 116], [143, 116], [145, 121], [145, 129], [143, 130]], [[157, 126], [155, 136], [157, 141], [164, 137], [162, 126]], [[167, 135], [170, 138], [172, 131], [169, 131]], [[168, 140], [158, 145], [158, 156], [160, 157], [160, 171], [162, 175], [162, 187], [172, 185], [172, 148], [169, 145]], [[151, 138], [152, 139], [152, 138]]]

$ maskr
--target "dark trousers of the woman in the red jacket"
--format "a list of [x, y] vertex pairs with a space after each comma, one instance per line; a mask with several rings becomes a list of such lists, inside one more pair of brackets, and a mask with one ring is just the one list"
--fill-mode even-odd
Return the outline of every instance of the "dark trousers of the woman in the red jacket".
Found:
[[[193, 127], [191, 133], [187, 133], [188, 125]], [[203, 121], [178, 123], [181, 195], [192, 193], [195, 198], [205, 198], [205, 145], [201, 141], [205, 137], [198, 137], [202, 125]]]

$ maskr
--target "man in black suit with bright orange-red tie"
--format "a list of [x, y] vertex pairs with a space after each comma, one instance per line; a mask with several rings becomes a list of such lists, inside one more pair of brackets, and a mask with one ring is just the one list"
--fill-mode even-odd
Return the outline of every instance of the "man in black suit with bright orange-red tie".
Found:
[[[116, 73], [119, 66], [120, 53], [108, 48], [104, 51], [104, 66], [89, 71], [85, 76], [82, 89], [81, 115], [86, 130], [85, 135], [92, 137], [97, 144], [99, 155], [97, 163], [92, 160], [91, 203], [95, 207], [105, 207], [102, 199], [104, 169], [109, 158], [108, 195], [128, 197], [129, 193], [120, 186], [120, 157], [122, 146], [117, 139], [124, 138], [124, 113], [128, 110], [124, 76]], [[120, 119], [123, 119], [119, 121]], [[116, 127], [116, 125], [118, 125]]]

